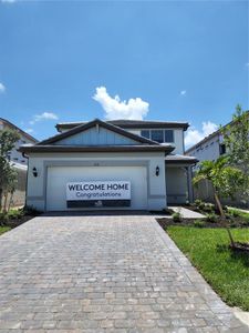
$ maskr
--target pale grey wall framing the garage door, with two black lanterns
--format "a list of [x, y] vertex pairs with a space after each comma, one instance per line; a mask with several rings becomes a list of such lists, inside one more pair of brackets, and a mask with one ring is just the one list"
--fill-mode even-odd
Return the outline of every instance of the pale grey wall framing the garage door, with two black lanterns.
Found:
[[[32, 153], [29, 159], [27, 204], [45, 210], [46, 170], [52, 165], [84, 165], [92, 168], [144, 165], [147, 169], [148, 210], [162, 210], [166, 203], [164, 153]], [[159, 175], [156, 176], [156, 167]], [[32, 169], [37, 168], [34, 178]]]

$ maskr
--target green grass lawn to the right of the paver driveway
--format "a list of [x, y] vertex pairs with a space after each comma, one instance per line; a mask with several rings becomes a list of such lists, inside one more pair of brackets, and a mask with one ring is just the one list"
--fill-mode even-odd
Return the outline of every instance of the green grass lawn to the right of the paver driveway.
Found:
[[[249, 311], [249, 254], [228, 249], [226, 230], [169, 226], [167, 233], [226, 303]], [[232, 234], [249, 241], [249, 229]]]

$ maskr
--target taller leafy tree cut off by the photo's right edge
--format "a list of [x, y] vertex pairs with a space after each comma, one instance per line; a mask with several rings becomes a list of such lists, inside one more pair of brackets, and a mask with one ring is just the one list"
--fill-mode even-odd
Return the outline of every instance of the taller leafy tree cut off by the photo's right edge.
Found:
[[243, 172], [240, 189], [241, 195], [249, 198], [249, 112], [243, 112], [238, 104], [232, 115], [232, 122], [221, 130], [227, 149], [229, 165]]

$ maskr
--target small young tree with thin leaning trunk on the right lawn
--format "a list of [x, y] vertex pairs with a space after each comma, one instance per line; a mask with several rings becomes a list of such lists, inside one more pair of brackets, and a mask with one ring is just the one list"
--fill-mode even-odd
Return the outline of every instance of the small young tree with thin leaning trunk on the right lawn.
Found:
[[194, 184], [201, 180], [210, 181], [214, 189], [216, 205], [219, 210], [221, 222], [225, 224], [230, 243], [235, 246], [235, 241], [230, 229], [226, 223], [226, 215], [220, 202], [220, 196], [234, 198], [238, 189], [243, 182], [243, 172], [238, 168], [228, 165], [228, 158], [221, 157], [216, 161], [203, 161], [200, 168], [193, 179]]

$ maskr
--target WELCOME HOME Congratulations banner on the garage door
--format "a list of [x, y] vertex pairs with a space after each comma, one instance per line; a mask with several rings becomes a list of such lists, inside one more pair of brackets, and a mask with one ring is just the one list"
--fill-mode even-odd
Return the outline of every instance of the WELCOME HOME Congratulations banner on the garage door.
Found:
[[[89, 181], [66, 183], [68, 206], [128, 205], [131, 201], [129, 181]], [[108, 201], [107, 204], [105, 202]], [[80, 202], [85, 202], [80, 204]]]

